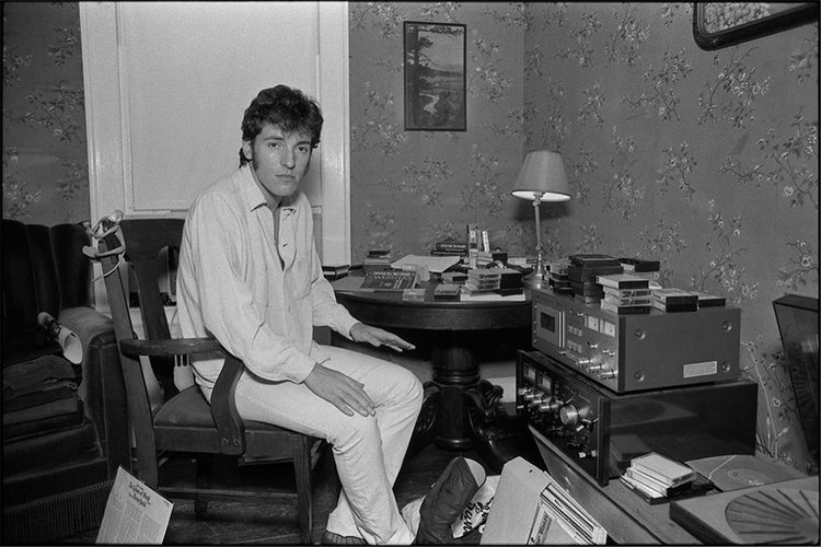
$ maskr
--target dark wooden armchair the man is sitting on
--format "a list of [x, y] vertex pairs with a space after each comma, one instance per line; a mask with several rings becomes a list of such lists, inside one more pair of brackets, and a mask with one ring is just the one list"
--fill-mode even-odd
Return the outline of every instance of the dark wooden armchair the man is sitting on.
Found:
[[[125, 259], [134, 267], [139, 291], [139, 305], [146, 339], [134, 334], [128, 311], [128, 294], [117, 265], [123, 253], [111, 256], [106, 251], [120, 246], [114, 232], [115, 223], [102, 222], [111, 233], [99, 241], [97, 259], [102, 263], [105, 288], [119, 342], [120, 362], [126, 382], [128, 412], [136, 439], [136, 475], [150, 487], [170, 498], [195, 500], [197, 516], [201, 516], [208, 500], [247, 499], [248, 497], [282, 501], [297, 500], [300, 538], [305, 545], [312, 540], [311, 475], [325, 446], [324, 441], [287, 429], [244, 421], [234, 404], [234, 389], [244, 365], [228, 353], [213, 338], [172, 339], [163, 310], [158, 283], [163, 271], [161, 251], [178, 248], [182, 240], [181, 219], [122, 220]], [[196, 353], [220, 352], [226, 363], [215, 385], [208, 405], [197, 385], [180, 392], [174, 385], [175, 364], [187, 363]], [[140, 356], [151, 362], [162, 391], [162, 404], [152, 410]], [[158, 459], [164, 453], [187, 453], [197, 459], [196, 486], [180, 488], [159, 485]], [[259, 489], [240, 491], [234, 488], [209, 488], [209, 467], [215, 454], [243, 455], [266, 462], [292, 461], [296, 492]]]

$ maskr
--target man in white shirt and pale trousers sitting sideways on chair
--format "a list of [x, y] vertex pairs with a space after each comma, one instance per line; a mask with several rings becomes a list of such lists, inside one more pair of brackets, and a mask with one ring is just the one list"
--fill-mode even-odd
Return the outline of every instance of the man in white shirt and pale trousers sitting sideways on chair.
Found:
[[[299, 90], [266, 89], [242, 120], [240, 167], [206, 188], [185, 221], [177, 272], [183, 336], [213, 336], [246, 366], [236, 409], [326, 439], [342, 482], [325, 544], [410, 544], [393, 494], [421, 407], [416, 376], [396, 364], [320, 346], [327, 325], [357, 342], [414, 349], [357, 322], [336, 302], [299, 189], [320, 142], [322, 113]], [[221, 359], [192, 363], [210, 400]]]

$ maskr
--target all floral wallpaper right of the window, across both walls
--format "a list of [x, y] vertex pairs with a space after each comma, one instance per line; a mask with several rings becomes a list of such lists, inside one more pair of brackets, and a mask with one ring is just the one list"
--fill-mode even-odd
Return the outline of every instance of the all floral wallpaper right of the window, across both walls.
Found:
[[[542, 206], [548, 256], [658, 259], [663, 286], [740, 307], [759, 451], [808, 470], [772, 301], [818, 298], [818, 24], [705, 51], [690, 3], [349, 5], [354, 261], [467, 222], [525, 254], [510, 190], [558, 151], [575, 195]], [[405, 20], [467, 25], [466, 131], [403, 130]]]

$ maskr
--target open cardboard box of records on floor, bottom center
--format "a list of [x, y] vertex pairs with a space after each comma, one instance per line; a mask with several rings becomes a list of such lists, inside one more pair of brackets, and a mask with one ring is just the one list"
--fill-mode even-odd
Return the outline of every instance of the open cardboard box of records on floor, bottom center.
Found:
[[567, 490], [522, 457], [505, 464], [482, 545], [598, 544], [608, 539]]

